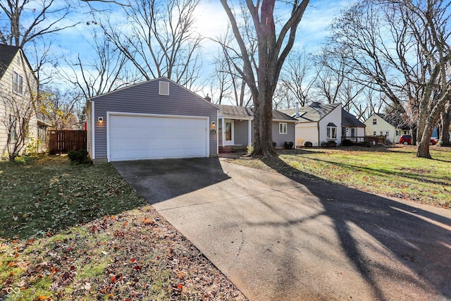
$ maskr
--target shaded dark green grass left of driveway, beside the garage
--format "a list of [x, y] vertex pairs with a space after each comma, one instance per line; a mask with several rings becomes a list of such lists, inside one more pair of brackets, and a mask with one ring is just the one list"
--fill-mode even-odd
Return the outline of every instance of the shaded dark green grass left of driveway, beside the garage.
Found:
[[111, 164], [0, 163], [0, 237], [41, 237], [145, 204]]

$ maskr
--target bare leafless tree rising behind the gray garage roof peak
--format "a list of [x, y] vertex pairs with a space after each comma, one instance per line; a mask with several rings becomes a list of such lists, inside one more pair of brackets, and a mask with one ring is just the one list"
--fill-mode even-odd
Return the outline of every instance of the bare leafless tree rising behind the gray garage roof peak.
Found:
[[201, 68], [202, 38], [194, 32], [198, 4], [199, 0], [133, 0], [121, 6], [126, 30], [108, 16], [97, 23], [142, 78], [166, 76], [190, 89]]

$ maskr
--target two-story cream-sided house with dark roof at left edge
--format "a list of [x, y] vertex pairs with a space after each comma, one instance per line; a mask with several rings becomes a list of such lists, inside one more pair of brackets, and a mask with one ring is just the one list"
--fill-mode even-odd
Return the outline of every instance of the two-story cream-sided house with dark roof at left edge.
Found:
[[[37, 79], [23, 50], [0, 44], [0, 156], [8, 153], [8, 144], [12, 149], [22, 139], [23, 152], [31, 140], [37, 141], [42, 134], [39, 129], [45, 124], [37, 120], [31, 102], [36, 94]], [[29, 133], [22, 138], [19, 127], [23, 125], [27, 125]]]

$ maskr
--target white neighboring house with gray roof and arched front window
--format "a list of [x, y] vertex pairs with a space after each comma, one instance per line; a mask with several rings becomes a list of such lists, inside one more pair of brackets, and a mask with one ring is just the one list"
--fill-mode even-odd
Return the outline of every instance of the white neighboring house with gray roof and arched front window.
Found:
[[319, 146], [321, 142], [330, 140], [340, 145], [345, 137], [350, 139], [365, 135], [364, 123], [342, 109], [340, 103], [320, 104], [313, 102], [309, 106], [280, 111], [297, 118], [297, 147], [303, 146], [305, 142]]

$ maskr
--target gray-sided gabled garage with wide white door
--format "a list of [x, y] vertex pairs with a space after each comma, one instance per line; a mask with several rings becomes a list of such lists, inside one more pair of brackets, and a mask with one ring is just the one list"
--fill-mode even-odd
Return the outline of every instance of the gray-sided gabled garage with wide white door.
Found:
[[218, 155], [218, 107], [168, 78], [87, 99], [94, 161]]

